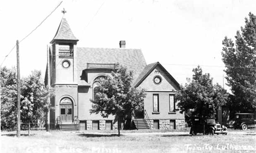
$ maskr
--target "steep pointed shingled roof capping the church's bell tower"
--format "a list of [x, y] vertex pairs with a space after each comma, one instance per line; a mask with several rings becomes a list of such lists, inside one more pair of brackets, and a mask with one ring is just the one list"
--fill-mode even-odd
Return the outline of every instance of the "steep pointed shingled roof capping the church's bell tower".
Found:
[[62, 18], [58, 30], [50, 43], [53, 44], [56, 40], [71, 40], [72, 42], [78, 41], [78, 39], [75, 38], [73, 32], [71, 31], [71, 28], [68, 25], [67, 20], [64, 17]]

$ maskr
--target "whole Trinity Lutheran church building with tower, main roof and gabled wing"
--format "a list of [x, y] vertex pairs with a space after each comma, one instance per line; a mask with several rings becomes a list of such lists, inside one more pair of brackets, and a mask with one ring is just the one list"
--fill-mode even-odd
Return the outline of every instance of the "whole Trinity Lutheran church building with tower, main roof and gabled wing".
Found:
[[133, 86], [147, 90], [143, 115], [133, 119], [136, 128], [185, 127], [184, 114], [175, 111], [174, 94], [179, 84], [159, 62], [147, 64], [141, 49], [126, 49], [125, 41], [119, 42], [120, 48], [78, 48], [78, 41], [63, 17], [50, 42], [45, 74], [45, 84], [55, 89], [51, 123], [68, 125], [79, 121], [81, 130], [117, 129], [114, 116], [90, 114], [90, 99], [97, 93], [98, 80], [111, 77], [110, 73], [121, 64], [133, 70]]

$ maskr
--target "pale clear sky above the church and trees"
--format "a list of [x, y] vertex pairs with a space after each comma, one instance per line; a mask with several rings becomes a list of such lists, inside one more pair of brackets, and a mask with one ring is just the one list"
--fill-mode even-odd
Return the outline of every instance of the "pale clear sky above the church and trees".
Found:
[[147, 64], [160, 62], [179, 84], [187, 83], [200, 65], [214, 83], [229, 89], [223, 79], [222, 40], [235, 40], [249, 12], [256, 14], [256, 1], [1, 1], [0, 64], [16, 67], [16, 48], [11, 49], [37, 27], [20, 42], [20, 74], [26, 77], [37, 69], [44, 76], [47, 46], [63, 8], [78, 47], [119, 48], [119, 41], [125, 40], [126, 48], [142, 49]]

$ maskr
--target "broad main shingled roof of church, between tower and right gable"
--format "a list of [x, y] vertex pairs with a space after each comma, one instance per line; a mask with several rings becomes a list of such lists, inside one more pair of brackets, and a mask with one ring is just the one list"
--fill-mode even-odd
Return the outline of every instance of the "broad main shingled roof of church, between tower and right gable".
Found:
[[141, 49], [126, 48], [77, 48], [77, 63], [78, 85], [84, 82], [80, 76], [87, 68], [87, 63], [119, 63], [133, 70], [134, 80], [147, 65]]

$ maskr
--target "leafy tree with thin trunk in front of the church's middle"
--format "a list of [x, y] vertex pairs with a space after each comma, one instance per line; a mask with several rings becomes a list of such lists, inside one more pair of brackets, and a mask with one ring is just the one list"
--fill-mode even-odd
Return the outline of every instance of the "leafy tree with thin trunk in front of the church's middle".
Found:
[[118, 121], [118, 135], [120, 136], [120, 122], [131, 118], [135, 111], [143, 111], [143, 99], [146, 97], [144, 89], [132, 87], [133, 72], [120, 66], [111, 73], [112, 78], [106, 77], [98, 83], [99, 92], [91, 100], [91, 113], [100, 113], [102, 117], [114, 115]]

